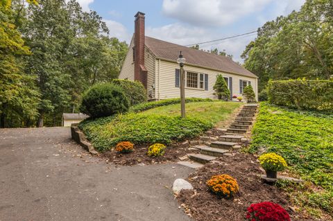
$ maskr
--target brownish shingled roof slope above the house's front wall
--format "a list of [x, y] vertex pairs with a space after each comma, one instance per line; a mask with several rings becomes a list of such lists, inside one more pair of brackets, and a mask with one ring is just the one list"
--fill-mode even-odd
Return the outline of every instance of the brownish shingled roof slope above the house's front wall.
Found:
[[176, 62], [179, 52], [182, 51], [182, 55], [186, 58], [187, 64], [193, 64], [208, 69], [216, 69], [226, 73], [235, 73], [250, 78], [257, 78], [254, 73], [251, 73], [244, 67], [241, 67], [241, 65], [232, 61], [230, 58], [221, 55], [214, 55], [205, 51], [199, 51], [194, 48], [164, 42], [160, 39], [147, 36], [145, 38], [145, 44], [156, 56], [156, 58], [160, 58], [162, 60], [164, 59]]

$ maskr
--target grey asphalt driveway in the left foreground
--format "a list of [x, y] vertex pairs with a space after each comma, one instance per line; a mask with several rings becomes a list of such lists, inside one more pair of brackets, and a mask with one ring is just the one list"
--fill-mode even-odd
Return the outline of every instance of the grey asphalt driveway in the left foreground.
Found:
[[190, 220], [171, 186], [178, 164], [118, 167], [91, 157], [66, 127], [0, 130], [0, 221]]

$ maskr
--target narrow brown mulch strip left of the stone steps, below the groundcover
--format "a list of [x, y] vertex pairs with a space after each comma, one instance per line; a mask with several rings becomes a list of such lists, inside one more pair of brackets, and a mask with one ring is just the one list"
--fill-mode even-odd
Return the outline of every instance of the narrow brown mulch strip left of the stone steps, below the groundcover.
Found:
[[[180, 158], [187, 154], [198, 153], [199, 150], [190, 148], [188, 143], [175, 143], [165, 150], [165, 154], [161, 157], [148, 157], [148, 145], [135, 145], [135, 150], [128, 154], [119, 154], [114, 150], [104, 152], [101, 157], [109, 162], [122, 166], [133, 166], [139, 163], [157, 164], [180, 161]], [[143, 164], [142, 164], [143, 165]]]

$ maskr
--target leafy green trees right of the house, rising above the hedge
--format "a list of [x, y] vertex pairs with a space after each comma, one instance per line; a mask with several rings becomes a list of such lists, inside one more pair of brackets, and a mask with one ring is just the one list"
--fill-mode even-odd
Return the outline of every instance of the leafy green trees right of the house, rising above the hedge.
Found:
[[244, 66], [269, 79], [330, 79], [333, 76], [333, 1], [307, 0], [300, 11], [268, 21], [246, 46]]

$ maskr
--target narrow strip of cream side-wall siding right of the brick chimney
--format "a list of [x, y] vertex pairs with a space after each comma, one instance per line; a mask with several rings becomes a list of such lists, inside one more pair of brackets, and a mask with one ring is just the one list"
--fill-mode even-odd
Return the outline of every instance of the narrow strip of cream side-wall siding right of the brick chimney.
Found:
[[148, 71], [147, 76], [147, 94], [148, 100], [155, 99], [155, 56], [148, 51], [147, 48], [144, 49], [144, 67]]

